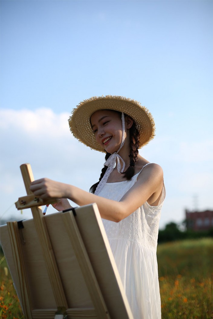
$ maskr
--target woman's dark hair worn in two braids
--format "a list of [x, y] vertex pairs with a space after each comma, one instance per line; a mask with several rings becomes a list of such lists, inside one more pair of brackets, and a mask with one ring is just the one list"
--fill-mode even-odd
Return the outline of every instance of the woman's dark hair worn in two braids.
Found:
[[[135, 167], [135, 164], [138, 160], [138, 148], [139, 148], [140, 134], [138, 132], [138, 129], [136, 128], [134, 121], [133, 121], [131, 128], [129, 129], [129, 133], [130, 133], [130, 154], [129, 154], [130, 165], [125, 172], [121, 173], [121, 174], [123, 174], [123, 178], [126, 178], [127, 181], [130, 181], [132, 179], [132, 177], [134, 176], [134, 167]], [[105, 160], [107, 160], [110, 157], [110, 155], [111, 155], [110, 153], [106, 152]], [[91, 193], [93, 193], [93, 194], [95, 193], [95, 190], [98, 187], [98, 184], [100, 183], [104, 174], [106, 173], [106, 170], [107, 170], [107, 166], [104, 165], [104, 167], [101, 170], [99, 181], [97, 183], [93, 184], [90, 188]]]

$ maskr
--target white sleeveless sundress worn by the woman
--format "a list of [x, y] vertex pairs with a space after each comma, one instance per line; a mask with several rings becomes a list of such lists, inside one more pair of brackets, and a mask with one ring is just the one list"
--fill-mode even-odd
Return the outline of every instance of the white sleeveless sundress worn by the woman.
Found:
[[[106, 183], [98, 195], [119, 201], [140, 173], [131, 181]], [[164, 198], [163, 184], [158, 206], [146, 202], [119, 223], [102, 219], [134, 319], [161, 318], [156, 249]]]

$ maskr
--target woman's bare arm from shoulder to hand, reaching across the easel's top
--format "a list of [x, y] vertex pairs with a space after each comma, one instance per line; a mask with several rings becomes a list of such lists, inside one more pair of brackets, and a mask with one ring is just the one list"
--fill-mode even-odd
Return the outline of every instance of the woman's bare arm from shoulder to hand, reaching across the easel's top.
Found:
[[100, 215], [104, 219], [119, 222], [126, 218], [148, 199], [153, 203], [160, 196], [162, 190], [163, 173], [157, 164], [148, 165], [139, 174], [134, 186], [121, 198], [119, 202], [106, 199], [73, 185], [41, 179], [32, 182], [31, 190], [41, 198], [57, 197], [69, 198], [79, 206], [96, 203]]

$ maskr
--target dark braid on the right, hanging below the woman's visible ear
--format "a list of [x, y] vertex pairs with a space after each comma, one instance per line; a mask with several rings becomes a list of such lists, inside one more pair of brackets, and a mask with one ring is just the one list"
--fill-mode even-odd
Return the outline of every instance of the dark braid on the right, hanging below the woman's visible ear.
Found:
[[136, 128], [134, 122], [131, 128], [129, 129], [129, 132], [130, 132], [130, 154], [129, 154], [130, 165], [127, 168], [127, 170], [122, 173], [124, 174], [123, 178], [126, 178], [127, 181], [130, 181], [132, 177], [134, 176], [134, 167], [138, 160], [138, 148], [139, 148], [139, 139], [140, 139], [138, 129]]

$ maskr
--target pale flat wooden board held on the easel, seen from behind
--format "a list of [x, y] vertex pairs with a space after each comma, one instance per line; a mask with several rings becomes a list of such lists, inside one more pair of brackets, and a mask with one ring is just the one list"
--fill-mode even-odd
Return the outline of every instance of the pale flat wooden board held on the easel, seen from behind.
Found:
[[[92, 266], [109, 318], [133, 319], [97, 205], [76, 208], [74, 215], [74, 224], [78, 227], [80, 239], [75, 240], [73, 244], [70, 239], [72, 234], [69, 234], [73, 226], [72, 210], [44, 216], [68, 304], [66, 309], [68, 318], [98, 318], [90, 286], [88, 288], [88, 281], [85, 280], [85, 274], [82, 274], [84, 264], [82, 266], [79, 259], [82, 257], [77, 256], [82, 245], [83, 249], [86, 249], [88, 263]], [[31, 295], [32, 318], [53, 319], [57, 305], [34, 220], [24, 220], [23, 226], [24, 228], [19, 229], [19, 237], [20, 242], [25, 241], [21, 244], [21, 250]], [[22, 303], [21, 287], [14, 266], [8, 226], [1, 226], [0, 231], [1, 245], [17, 295]], [[87, 268], [85, 269], [87, 271]]]

